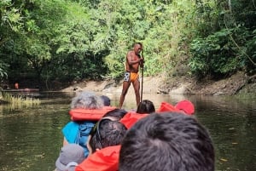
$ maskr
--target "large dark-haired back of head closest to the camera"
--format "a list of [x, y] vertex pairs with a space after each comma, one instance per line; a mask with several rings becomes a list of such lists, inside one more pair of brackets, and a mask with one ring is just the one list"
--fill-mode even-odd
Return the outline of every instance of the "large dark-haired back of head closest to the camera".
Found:
[[138, 121], [125, 135], [119, 171], [214, 171], [207, 129], [194, 117], [166, 112]]

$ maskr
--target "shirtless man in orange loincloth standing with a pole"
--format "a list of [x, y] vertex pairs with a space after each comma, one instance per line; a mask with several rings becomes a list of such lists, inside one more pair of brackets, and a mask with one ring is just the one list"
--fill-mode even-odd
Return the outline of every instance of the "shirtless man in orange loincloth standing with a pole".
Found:
[[137, 105], [140, 102], [140, 82], [139, 82], [139, 66], [143, 67], [143, 57], [140, 56], [140, 52], [143, 50], [142, 43], [134, 43], [133, 49], [129, 51], [126, 55], [125, 61], [125, 77], [123, 82], [123, 90], [122, 94], [120, 95], [119, 100], [119, 109], [121, 109], [125, 95], [127, 94], [128, 88], [132, 83], [134, 88], [134, 92], [136, 95], [136, 102]]

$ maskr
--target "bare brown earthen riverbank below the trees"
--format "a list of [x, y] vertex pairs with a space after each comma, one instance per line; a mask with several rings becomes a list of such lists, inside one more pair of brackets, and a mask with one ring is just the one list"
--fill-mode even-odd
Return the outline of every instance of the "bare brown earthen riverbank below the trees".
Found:
[[[101, 82], [82, 81], [62, 88], [62, 92], [90, 90], [108, 94], [119, 94], [122, 90], [122, 81], [114, 83], [112, 80]], [[133, 88], [129, 88], [129, 92]], [[222, 80], [204, 79], [200, 82], [193, 77], [143, 77], [144, 94], [205, 94], [205, 95], [234, 95], [256, 94], [255, 77], [247, 77], [237, 72], [231, 77]]]

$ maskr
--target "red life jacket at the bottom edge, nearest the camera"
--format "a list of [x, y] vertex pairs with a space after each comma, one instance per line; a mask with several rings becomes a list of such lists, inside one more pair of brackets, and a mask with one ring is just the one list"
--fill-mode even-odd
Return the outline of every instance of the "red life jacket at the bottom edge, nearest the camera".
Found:
[[117, 171], [121, 145], [108, 146], [87, 157], [75, 171]]

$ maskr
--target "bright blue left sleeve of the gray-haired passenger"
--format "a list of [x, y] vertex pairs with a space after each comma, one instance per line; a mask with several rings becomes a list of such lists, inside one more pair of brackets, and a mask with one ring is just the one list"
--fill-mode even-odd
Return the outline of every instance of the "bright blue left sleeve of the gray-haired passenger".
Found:
[[75, 143], [79, 132], [79, 123], [69, 122], [62, 128], [62, 134], [68, 143]]

